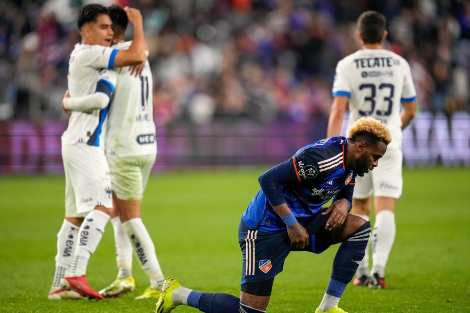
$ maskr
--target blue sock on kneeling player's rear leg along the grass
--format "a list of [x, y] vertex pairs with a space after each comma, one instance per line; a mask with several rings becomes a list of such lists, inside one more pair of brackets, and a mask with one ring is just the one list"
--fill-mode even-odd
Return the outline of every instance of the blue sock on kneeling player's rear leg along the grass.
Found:
[[240, 299], [228, 293], [191, 291], [188, 306], [206, 313], [239, 313]]

